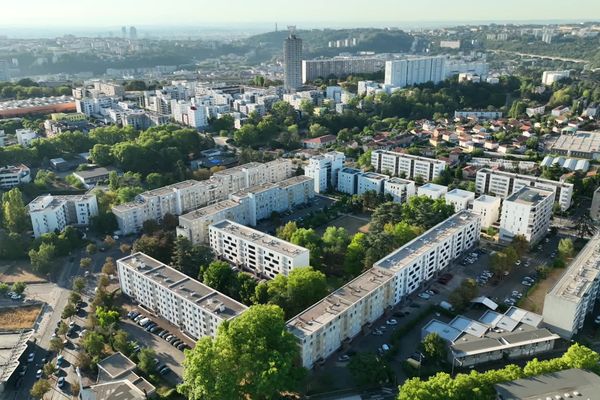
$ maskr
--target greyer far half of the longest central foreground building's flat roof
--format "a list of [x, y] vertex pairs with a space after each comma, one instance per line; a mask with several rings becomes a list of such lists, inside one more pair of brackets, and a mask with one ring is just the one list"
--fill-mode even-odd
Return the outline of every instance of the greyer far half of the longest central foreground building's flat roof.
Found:
[[453, 235], [454, 232], [478, 218], [479, 215], [471, 211], [463, 210], [458, 212], [429, 229], [421, 236], [411, 240], [396, 251], [377, 261], [374, 266], [398, 271], [410, 264], [415, 258], [418, 258], [429, 251], [441, 240]]

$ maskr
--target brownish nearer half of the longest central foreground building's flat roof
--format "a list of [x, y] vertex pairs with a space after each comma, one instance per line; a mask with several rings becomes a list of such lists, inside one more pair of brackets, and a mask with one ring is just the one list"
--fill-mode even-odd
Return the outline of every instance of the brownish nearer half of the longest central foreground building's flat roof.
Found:
[[311, 335], [391, 279], [388, 271], [371, 268], [290, 319], [288, 329], [298, 338]]

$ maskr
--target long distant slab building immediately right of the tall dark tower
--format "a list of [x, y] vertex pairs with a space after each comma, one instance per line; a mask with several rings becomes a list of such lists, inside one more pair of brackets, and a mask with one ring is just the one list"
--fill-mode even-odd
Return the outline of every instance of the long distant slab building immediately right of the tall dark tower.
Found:
[[302, 60], [302, 83], [330, 76], [343, 78], [352, 74], [373, 74], [383, 70], [385, 60], [376, 57], [334, 57]]

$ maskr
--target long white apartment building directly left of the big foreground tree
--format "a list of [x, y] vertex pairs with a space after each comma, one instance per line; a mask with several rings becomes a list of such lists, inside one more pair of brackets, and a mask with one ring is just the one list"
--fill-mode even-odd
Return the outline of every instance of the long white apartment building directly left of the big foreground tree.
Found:
[[117, 271], [123, 293], [196, 339], [247, 308], [144, 253], [117, 260]]

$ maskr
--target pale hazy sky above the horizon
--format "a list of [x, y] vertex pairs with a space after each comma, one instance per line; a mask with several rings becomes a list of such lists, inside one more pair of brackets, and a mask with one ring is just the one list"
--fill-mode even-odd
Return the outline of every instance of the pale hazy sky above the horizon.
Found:
[[0, 0], [4, 28], [594, 19], [600, 0]]

